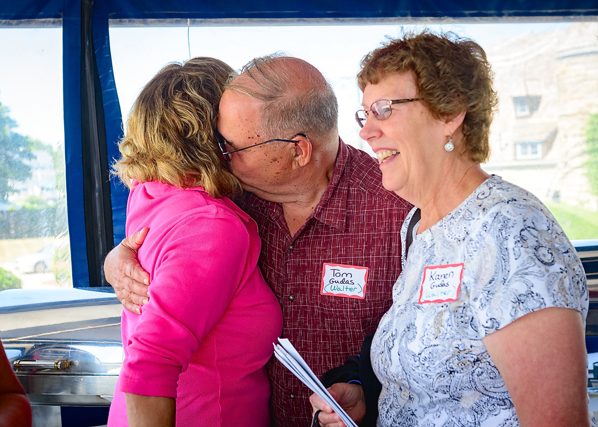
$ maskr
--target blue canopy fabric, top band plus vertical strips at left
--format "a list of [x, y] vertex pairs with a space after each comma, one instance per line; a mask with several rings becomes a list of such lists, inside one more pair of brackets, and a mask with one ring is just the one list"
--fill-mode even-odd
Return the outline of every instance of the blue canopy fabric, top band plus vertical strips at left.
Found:
[[[598, 0], [95, 0], [91, 18], [99, 74], [108, 161], [118, 157], [123, 135], [120, 104], [114, 83], [109, 19], [334, 19], [334, 18], [484, 18], [484, 17], [596, 17]], [[81, 1], [0, 0], [1, 20], [62, 19], [63, 101], [66, 184], [73, 283], [90, 286], [83, 200], [81, 136]], [[124, 238], [128, 191], [111, 181], [114, 244]], [[93, 261], [94, 262], [94, 261]]]

